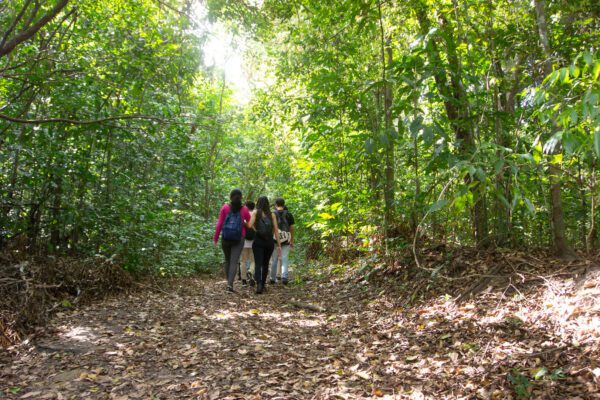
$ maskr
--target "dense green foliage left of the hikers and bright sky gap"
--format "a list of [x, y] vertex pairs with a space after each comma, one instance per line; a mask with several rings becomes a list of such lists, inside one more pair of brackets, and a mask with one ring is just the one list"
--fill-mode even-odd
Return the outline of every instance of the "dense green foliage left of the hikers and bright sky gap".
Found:
[[[0, 246], [163, 274], [217, 268], [217, 193], [235, 181], [226, 132], [242, 117], [202, 69], [184, 2], [169, 5], [69, 4], [0, 57]], [[4, 6], [0, 26], [21, 7]]]

